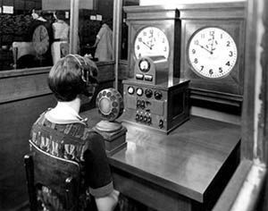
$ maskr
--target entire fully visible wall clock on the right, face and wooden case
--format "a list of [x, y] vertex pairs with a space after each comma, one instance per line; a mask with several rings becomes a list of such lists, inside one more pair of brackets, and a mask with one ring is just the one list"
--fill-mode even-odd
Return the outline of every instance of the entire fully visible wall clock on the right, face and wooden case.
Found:
[[246, 4], [195, 4], [179, 10], [180, 76], [190, 80], [190, 97], [240, 107]]

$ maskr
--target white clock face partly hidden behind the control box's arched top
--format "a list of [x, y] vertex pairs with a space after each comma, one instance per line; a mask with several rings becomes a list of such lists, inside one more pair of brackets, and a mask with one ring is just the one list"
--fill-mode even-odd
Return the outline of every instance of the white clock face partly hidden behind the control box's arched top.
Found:
[[138, 32], [134, 41], [136, 58], [141, 56], [163, 56], [170, 53], [169, 41], [162, 30], [156, 27], [146, 27]]

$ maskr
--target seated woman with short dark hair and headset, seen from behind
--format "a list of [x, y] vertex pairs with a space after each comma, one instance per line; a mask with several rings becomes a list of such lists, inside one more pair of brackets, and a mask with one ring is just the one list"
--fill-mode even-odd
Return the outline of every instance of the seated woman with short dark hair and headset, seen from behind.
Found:
[[[54, 64], [48, 75], [48, 85], [57, 105], [41, 114], [34, 123], [31, 142], [52, 156], [81, 165], [85, 189], [80, 192], [80, 207], [76, 210], [88, 207], [90, 193], [97, 209], [108, 211], [116, 206], [119, 192], [113, 190], [104, 139], [88, 128], [87, 120], [79, 115], [82, 101], [90, 100], [95, 91], [96, 74], [96, 64], [80, 55], [67, 55]], [[47, 128], [53, 129], [48, 135]], [[63, 139], [55, 141], [59, 132], [64, 134]], [[49, 187], [38, 190], [38, 200], [43, 210], [63, 210], [62, 202]]]

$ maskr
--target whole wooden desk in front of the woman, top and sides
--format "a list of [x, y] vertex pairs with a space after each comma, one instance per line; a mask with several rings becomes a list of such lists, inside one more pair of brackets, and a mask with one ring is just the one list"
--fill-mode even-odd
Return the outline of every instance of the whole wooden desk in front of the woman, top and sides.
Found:
[[[96, 110], [82, 115], [98, 122]], [[124, 125], [128, 146], [110, 157], [115, 188], [156, 210], [210, 210], [239, 164], [238, 125], [191, 116], [169, 135]]]

